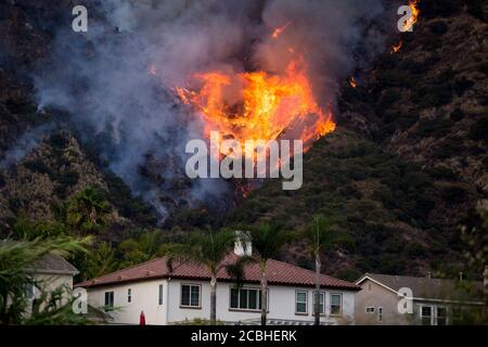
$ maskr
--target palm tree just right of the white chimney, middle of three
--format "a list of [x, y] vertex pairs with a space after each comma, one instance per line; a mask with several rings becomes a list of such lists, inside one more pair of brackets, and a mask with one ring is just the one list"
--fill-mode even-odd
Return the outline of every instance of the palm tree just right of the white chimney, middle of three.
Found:
[[280, 224], [262, 224], [257, 228], [249, 228], [249, 236], [253, 242], [253, 252], [256, 261], [259, 264], [261, 273], [261, 325], [266, 325], [268, 314], [268, 280], [266, 266], [269, 259], [275, 258], [280, 249], [292, 241], [294, 233], [283, 230]]

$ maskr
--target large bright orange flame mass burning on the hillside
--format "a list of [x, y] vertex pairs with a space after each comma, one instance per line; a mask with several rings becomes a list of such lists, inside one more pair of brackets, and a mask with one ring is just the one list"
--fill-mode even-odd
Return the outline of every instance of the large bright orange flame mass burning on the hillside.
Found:
[[331, 111], [324, 112], [313, 98], [300, 59], [292, 60], [283, 75], [208, 72], [191, 76], [190, 81], [196, 87], [178, 87], [176, 93], [200, 111], [207, 138], [219, 131], [243, 143], [290, 133], [307, 149], [335, 129]]

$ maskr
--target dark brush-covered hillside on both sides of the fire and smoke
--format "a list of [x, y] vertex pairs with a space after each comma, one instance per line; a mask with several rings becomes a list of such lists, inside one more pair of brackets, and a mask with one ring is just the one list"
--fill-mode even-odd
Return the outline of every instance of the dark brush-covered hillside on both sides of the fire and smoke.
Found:
[[[97, 187], [112, 216], [98, 241], [117, 246], [160, 227], [154, 208], [69, 127], [68, 115], [38, 111], [29, 73], [49, 57], [53, 27], [70, 4], [0, 3], [0, 235], [20, 218], [54, 220], [76, 192]], [[265, 221], [301, 230], [324, 214], [338, 220], [323, 254], [328, 273], [352, 280], [364, 271], [468, 272], [459, 227], [477, 223], [474, 206], [488, 196], [487, 7], [453, 0], [420, 7], [414, 31], [389, 38], [391, 46], [401, 40], [397, 53], [387, 50], [356, 72], [356, 88], [343, 81], [337, 130], [305, 155], [300, 190], [268, 180], [223, 216], [181, 204], [157, 233], [174, 240], [206, 224]], [[116, 256], [127, 260], [126, 247]], [[300, 242], [282, 258], [311, 267]], [[137, 254], [124, 265], [141, 259]]]

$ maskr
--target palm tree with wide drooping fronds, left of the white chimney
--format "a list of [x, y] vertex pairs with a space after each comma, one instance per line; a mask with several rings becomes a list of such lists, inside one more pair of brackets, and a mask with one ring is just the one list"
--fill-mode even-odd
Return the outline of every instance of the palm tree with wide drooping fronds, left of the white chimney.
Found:
[[208, 228], [207, 232], [195, 232], [184, 244], [170, 244], [165, 247], [163, 254], [168, 256], [168, 267], [172, 262], [193, 261], [204, 265], [210, 272], [210, 324], [217, 322], [217, 273], [224, 266], [222, 260], [232, 250], [235, 242], [235, 233], [231, 230], [214, 232]]

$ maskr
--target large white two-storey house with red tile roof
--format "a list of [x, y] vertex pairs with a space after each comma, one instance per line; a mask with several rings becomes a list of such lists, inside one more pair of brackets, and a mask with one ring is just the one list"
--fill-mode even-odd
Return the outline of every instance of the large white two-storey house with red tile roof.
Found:
[[[222, 266], [242, 253], [230, 253]], [[94, 280], [77, 284], [88, 291], [88, 304], [116, 308], [113, 323], [138, 324], [141, 311], [146, 324], [178, 324], [210, 317], [210, 274], [201, 265], [157, 258]], [[278, 260], [269, 260], [268, 324], [312, 324], [314, 272]], [[354, 283], [321, 275], [322, 324], [354, 322]], [[217, 319], [226, 324], [260, 323], [260, 271], [247, 265], [242, 286], [222, 268], [218, 272]]]

